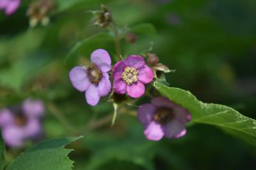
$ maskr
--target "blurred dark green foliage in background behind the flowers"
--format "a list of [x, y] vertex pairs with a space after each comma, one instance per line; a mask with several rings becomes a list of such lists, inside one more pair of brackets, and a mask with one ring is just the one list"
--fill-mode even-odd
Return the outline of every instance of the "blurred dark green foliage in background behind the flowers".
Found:
[[[85, 136], [69, 146], [75, 149], [70, 153], [75, 169], [255, 167], [254, 147], [208, 125], [189, 125], [184, 138], [160, 142], [147, 141], [142, 125], [130, 115], [118, 114], [113, 127], [111, 119], [94, 127], [96, 120], [112, 117], [112, 104], [104, 97], [98, 106], [88, 106], [84, 94], [73, 89], [68, 72], [86, 63], [96, 48], [114, 57], [113, 35], [92, 24], [90, 11], [104, 3], [122, 32], [137, 34], [133, 44], [121, 41], [123, 57], [147, 50], [153, 42], [152, 52], [176, 69], [167, 74], [170, 87], [256, 118], [256, 1], [57, 0], [50, 24], [34, 29], [26, 17], [29, 3], [22, 1], [10, 17], [0, 11], [0, 107], [26, 97], [43, 99], [45, 138]], [[144, 97], [139, 103], [147, 101]], [[70, 124], [60, 122], [59, 113]], [[8, 148], [7, 155], [17, 157], [20, 151]]]

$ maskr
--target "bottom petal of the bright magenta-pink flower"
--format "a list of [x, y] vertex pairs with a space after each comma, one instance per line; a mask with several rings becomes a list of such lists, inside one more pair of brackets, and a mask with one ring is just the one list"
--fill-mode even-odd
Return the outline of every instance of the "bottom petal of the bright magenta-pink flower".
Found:
[[126, 90], [128, 96], [133, 98], [141, 97], [145, 92], [145, 85], [137, 81], [136, 83], [132, 83], [132, 85], [127, 85]]

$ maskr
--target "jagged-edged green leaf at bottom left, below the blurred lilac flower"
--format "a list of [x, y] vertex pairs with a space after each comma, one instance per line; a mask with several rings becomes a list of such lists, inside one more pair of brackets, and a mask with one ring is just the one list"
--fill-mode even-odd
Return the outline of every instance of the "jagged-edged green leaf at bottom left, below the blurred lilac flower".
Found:
[[17, 159], [11, 162], [7, 170], [72, 169], [73, 161], [68, 159], [68, 153], [72, 150], [63, 147], [80, 138], [82, 137], [61, 138], [39, 143], [21, 153]]

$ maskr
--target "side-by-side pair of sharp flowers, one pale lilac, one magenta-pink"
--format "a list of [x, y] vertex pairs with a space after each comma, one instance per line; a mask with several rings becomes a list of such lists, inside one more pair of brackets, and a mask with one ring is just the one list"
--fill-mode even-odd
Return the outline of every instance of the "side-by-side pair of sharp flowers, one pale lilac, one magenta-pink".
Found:
[[[108, 74], [111, 69], [110, 55], [106, 50], [95, 50], [91, 53], [91, 62], [91, 66], [73, 67], [70, 80], [75, 89], [86, 92], [87, 103], [95, 106], [100, 97], [107, 96], [111, 90]], [[153, 71], [142, 57], [130, 55], [114, 65], [112, 76], [114, 92], [138, 98], [145, 92], [144, 84], [153, 80]]]

